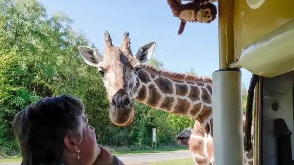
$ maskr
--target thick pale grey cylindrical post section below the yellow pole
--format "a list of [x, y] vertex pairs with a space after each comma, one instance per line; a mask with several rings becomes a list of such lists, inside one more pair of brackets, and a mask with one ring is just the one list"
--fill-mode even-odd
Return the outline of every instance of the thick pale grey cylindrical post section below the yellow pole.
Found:
[[240, 69], [215, 71], [212, 97], [215, 165], [244, 165]]

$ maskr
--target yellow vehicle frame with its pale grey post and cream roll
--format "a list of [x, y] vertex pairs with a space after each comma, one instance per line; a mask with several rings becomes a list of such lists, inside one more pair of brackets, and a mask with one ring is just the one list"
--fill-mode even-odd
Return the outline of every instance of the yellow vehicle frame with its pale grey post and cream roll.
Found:
[[[294, 70], [294, 0], [219, 0], [218, 11], [220, 70], [213, 73], [215, 165], [243, 165], [240, 68], [265, 78]], [[260, 86], [256, 87], [257, 104]], [[261, 165], [259, 111], [255, 109], [254, 165]]]

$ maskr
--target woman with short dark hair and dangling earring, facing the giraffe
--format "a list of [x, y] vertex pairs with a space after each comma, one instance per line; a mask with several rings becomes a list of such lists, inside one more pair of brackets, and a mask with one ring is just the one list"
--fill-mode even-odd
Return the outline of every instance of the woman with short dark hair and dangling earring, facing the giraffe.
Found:
[[84, 105], [72, 96], [45, 98], [13, 120], [22, 165], [124, 165], [96, 143]]

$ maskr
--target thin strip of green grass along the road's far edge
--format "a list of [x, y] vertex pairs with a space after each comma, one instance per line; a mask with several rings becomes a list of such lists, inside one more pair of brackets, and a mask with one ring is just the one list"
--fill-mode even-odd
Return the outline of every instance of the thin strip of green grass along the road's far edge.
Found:
[[[188, 148], [169, 148], [169, 149], [134, 150], [134, 151], [123, 151], [123, 150], [121, 150], [121, 151], [112, 151], [112, 153], [115, 154], [115, 155], [131, 155], [131, 154], [146, 154], [146, 153], [179, 151], [179, 150], [187, 150], [187, 149]], [[0, 163], [21, 162], [21, 161], [22, 161], [22, 158], [20, 156], [14, 156], [12, 158], [0, 159]], [[161, 165], [161, 164], [158, 164], [158, 165]], [[165, 164], [163, 164], [163, 165], [165, 165]], [[167, 165], [169, 165], [169, 164], [167, 164]]]

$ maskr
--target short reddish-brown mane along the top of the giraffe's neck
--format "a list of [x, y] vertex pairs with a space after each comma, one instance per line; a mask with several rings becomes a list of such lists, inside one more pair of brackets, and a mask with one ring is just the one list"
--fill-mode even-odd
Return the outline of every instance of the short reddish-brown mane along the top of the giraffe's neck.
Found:
[[171, 80], [186, 81], [186, 82], [209, 82], [212, 83], [212, 79], [208, 77], [199, 77], [192, 74], [183, 74], [177, 72], [171, 72], [163, 69], [156, 69], [148, 64], [141, 64], [141, 67], [148, 73], [157, 75], [159, 77], [168, 78]]

